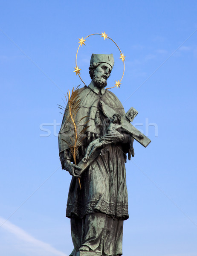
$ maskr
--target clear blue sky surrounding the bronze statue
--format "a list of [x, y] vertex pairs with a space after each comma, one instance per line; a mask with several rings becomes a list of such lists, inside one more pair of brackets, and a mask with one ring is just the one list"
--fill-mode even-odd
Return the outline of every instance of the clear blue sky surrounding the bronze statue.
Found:
[[[112, 91], [125, 111], [139, 111], [133, 123], [152, 140], [147, 148], [135, 142], [126, 164], [123, 255], [197, 255], [196, 12], [194, 0], [0, 1], [2, 256], [72, 251], [57, 104], [81, 84], [73, 73], [78, 38], [104, 31], [126, 56]], [[87, 84], [92, 53], [113, 53], [111, 87], [122, 76], [118, 49], [87, 39], [78, 53]]]

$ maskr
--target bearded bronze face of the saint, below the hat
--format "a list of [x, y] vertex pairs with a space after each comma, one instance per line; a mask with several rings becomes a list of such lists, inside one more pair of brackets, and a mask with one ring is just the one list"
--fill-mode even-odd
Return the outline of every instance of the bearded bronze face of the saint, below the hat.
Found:
[[94, 70], [93, 82], [99, 88], [104, 88], [107, 85], [107, 79], [111, 73], [111, 66], [107, 63], [101, 63]]

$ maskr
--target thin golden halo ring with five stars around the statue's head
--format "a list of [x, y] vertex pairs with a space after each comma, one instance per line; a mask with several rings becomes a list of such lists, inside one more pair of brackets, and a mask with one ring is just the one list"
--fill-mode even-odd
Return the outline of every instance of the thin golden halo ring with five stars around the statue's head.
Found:
[[[101, 37], [103, 37], [104, 38], [104, 40], [106, 39], [106, 38], [108, 38], [108, 39], [110, 39], [114, 44], [116, 44], [110, 37], [108, 37], [107, 36], [107, 34], [105, 34], [105, 32], [103, 33], [101, 33], [101, 34], [91, 34], [91, 35], [101, 35]], [[79, 47], [80, 47], [80, 45], [82, 46], [83, 44], [85, 45], [85, 41], [86, 41], [86, 38], [88, 38], [88, 37], [90, 37], [91, 35], [88, 35], [87, 37], [85, 37], [85, 38], [79, 38], [79, 42], [78, 42], [78, 44], [79, 44], [79, 46], [78, 46], [78, 49], [79, 49]], [[118, 45], [116, 44], [116, 46], [118, 47]], [[77, 66], [77, 54], [78, 54], [78, 49], [77, 49], [77, 53], [76, 53], [76, 58], [75, 58], [75, 63], [76, 63], [76, 67], [74, 67], [75, 68], [75, 71], [73, 71], [73, 72], [75, 72], [76, 73], [76, 75], [78, 75], [79, 76], [79, 78], [81, 79], [81, 76], [80, 76], [80, 68]], [[123, 74], [122, 74], [122, 78], [123, 78], [123, 76], [124, 76], [124, 73], [125, 73], [125, 56], [124, 56], [124, 53], [122, 53], [121, 52], [121, 50], [120, 50], [120, 48], [118, 47], [118, 49], [119, 49], [119, 51], [120, 51], [120, 59], [122, 59], [122, 61], [123, 61], [123, 65], [124, 65], [124, 69], [123, 69]], [[116, 87], [116, 88], [120, 88], [120, 84], [121, 84], [121, 81], [122, 81], [122, 78], [120, 79], [120, 80], [118, 80], [118, 81], [116, 81], [116, 83], [115, 83], [115, 85], [113, 86], [113, 87], [110, 87], [110, 88], [106, 88], [106, 89], [112, 89], [112, 88], [114, 88], [114, 87]], [[84, 81], [81, 79], [81, 81], [84, 83]], [[84, 85], [86, 86], [86, 84], [84, 83]]]

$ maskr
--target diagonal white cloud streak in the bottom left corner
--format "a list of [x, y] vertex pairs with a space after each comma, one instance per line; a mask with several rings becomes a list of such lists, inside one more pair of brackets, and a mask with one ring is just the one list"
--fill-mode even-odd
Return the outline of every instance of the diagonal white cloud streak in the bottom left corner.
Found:
[[[4, 218], [0, 217], [0, 224], [3, 223], [1, 228], [6, 230], [9, 233], [14, 234], [19, 241], [21, 241], [21, 247], [20, 250], [26, 250], [23, 251], [23, 253], [29, 254], [29, 250], [33, 252], [31, 255], [36, 256], [67, 256], [67, 254], [56, 250], [54, 247], [52, 247], [50, 244], [47, 244], [43, 241], [40, 241], [38, 239], [35, 239], [33, 236], [29, 235], [26, 231], [21, 229], [20, 227], [17, 227], [16, 225], [12, 224], [10, 221], [6, 221]], [[4, 231], [5, 232], [5, 231]], [[26, 243], [26, 246], [24, 246]], [[19, 244], [17, 244], [19, 245]]]

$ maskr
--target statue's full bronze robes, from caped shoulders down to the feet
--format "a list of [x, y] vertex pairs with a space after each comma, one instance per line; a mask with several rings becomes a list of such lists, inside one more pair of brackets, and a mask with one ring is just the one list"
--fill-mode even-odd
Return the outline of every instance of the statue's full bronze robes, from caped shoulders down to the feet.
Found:
[[[81, 103], [76, 121], [83, 116], [87, 116], [83, 119], [83, 123], [81, 127], [79, 127], [79, 132], [80, 129], [89, 125], [86, 132], [95, 134], [95, 136], [96, 134], [99, 136], [105, 134], [107, 126], [109, 125], [109, 119], [104, 115], [102, 109], [99, 108], [100, 101], [104, 102], [121, 116], [125, 114], [119, 99], [112, 92], [104, 88], [100, 90], [98, 87], [90, 84], [89, 87], [79, 89], [79, 96]], [[99, 111], [99, 118], [102, 123], [101, 127], [98, 127], [95, 122], [97, 111]], [[85, 124], [88, 120], [88, 124]], [[64, 140], [69, 141], [69, 137], [73, 136], [71, 130], [70, 124], [66, 122], [66, 118], [64, 117], [59, 132], [60, 153], [68, 150], [68, 146]], [[84, 139], [79, 147], [78, 162], [84, 157], [87, 146], [87, 140]], [[103, 255], [122, 255], [123, 220], [129, 217], [124, 161], [128, 148], [129, 143], [108, 145], [104, 153], [100, 154], [81, 175], [80, 181], [82, 189], [79, 188], [78, 179], [72, 177], [66, 216], [68, 218], [74, 218], [71, 220], [72, 240], [77, 239], [76, 243], [73, 241], [75, 246], [74, 251], [77, 251], [77, 247], [82, 244], [87, 245], [93, 251], [103, 253]], [[92, 218], [91, 215], [95, 216], [93, 217], [93, 222], [97, 223], [97, 236], [100, 237], [102, 234], [102, 238], [97, 239], [98, 241], [96, 239], [89, 241], [91, 239], [88, 240], [84, 237], [76, 238], [76, 236], [83, 236], [82, 233], [84, 233], [84, 230], [76, 230], [76, 226], [83, 226], [84, 224], [82, 224], [82, 222], [89, 223], [89, 219]], [[87, 216], [90, 217], [87, 219]], [[107, 221], [102, 221], [102, 218], [106, 218], [106, 216]], [[103, 227], [101, 224], [98, 224], [99, 218], [103, 223]], [[84, 221], [82, 221], [83, 219]], [[76, 220], [78, 224], [76, 224]], [[82, 221], [81, 224], [79, 224], [80, 221]], [[92, 227], [93, 222], [92, 224], [89, 223]], [[101, 230], [99, 230], [99, 226]], [[106, 230], [107, 227], [108, 230]], [[83, 227], [83, 229], [84, 228], [86, 227]], [[114, 235], [113, 238], [110, 238], [109, 233], [112, 231], [114, 231]], [[87, 231], [88, 237], [90, 237], [91, 232], [91, 230]], [[81, 235], [79, 235], [80, 233]], [[95, 236], [94, 234], [94, 237]], [[108, 240], [109, 243], [107, 244], [106, 241]]]

